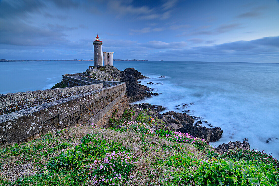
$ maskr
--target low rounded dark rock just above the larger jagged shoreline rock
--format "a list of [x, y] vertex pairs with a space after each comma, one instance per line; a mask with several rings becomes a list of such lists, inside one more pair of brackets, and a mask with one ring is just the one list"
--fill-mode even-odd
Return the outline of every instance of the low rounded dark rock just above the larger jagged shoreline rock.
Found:
[[[188, 123], [193, 124], [194, 118], [186, 113], [178, 113], [174, 111], [163, 113], [163, 120], [168, 120], [168, 123], [180, 123], [186, 125]], [[173, 122], [175, 121], [175, 122]]]

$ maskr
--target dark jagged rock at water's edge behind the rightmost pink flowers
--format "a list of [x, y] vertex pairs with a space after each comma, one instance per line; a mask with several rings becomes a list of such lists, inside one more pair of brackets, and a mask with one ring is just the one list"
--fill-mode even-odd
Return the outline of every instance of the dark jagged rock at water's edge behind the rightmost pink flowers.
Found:
[[182, 128], [178, 129], [179, 132], [188, 133], [192, 136], [204, 139], [206, 142], [215, 142], [218, 141], [222, 134], [223, 130], [220, 127], [215, 128], [206, 128], [206, 127], [196, 127], [192, 124], [184, 125]]

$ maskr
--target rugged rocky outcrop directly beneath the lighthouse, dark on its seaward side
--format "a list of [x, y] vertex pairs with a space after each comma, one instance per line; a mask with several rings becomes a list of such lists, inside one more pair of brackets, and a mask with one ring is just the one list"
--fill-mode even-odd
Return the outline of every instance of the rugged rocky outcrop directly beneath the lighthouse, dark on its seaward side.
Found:
[[152, 97], [151, 93], [148, 92], [150, 91], [150, 88], [139, 84], [139, 82], [137, 81], [138, 79], [148, 77], [141, 75], [141, 73], [134, 68], [126, 68], [125, 70], [120, 71], [114, 66], [101, 66], [98, 68], [86, 70], [86, 72], [84, 72], [82, 76], [85, 75], [92, 75], [92, 78], [104, 81], [107, 81], [107, 77], [109, 78], [109, 81], [125, 82], [129, 103], [140, 101], [145, 97]]

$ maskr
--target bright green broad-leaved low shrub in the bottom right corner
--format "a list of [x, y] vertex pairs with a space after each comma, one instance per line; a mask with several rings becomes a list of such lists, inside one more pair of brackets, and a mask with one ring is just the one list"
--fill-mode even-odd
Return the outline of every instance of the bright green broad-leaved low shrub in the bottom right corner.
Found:
[[[214, 156], [210, 160], [201, 161], [177, 155], [171, 156], [164, 164], [179, 167], [177, 171], [170, 173], [174, 184], [194, 182], [200, 186], [279, 185], [278, 171], [273, 164], [250, 160], [217, 160]], [[194, 168], [189, 168], [193, 166]]]

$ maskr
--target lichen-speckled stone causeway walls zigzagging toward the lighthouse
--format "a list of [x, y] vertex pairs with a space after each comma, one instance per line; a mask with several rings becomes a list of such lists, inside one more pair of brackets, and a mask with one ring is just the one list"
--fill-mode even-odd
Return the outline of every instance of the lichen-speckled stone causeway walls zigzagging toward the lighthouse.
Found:
[[[81, 80], [78, 75], [63, 75], [63, 81], [81, 86], [49, 89], [50, 92], [54, 92], [51, 94], [52, 97], [44, 95], [50, 94], [47, 90], [38, 90], [41, 91], [42, 98], [48, 98], [48, 102], [30, 108], [25, 108], [26, 105], [24, 109], [0, 115], [0, 141], [27, 142], [49, 131], [71, 128], [84, 123], [95, 123], [98, 127], [108, 126], [109, 118], [115, 109], [118, 110], [117, 117], [121, 117], [124, 109], [129, 108], [124, 82], [106, 83], [111, 86], [103, 87], [103, 83]], [[62, 95], [65, 98], [59, 99], [56, 92], [61, 98]], [[27, 93], [29, 92], [13, 94], [24, 96]], [[27, 102], [27, 98], [24, 100]]]

